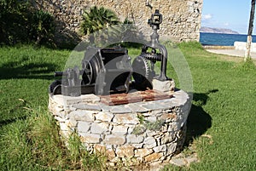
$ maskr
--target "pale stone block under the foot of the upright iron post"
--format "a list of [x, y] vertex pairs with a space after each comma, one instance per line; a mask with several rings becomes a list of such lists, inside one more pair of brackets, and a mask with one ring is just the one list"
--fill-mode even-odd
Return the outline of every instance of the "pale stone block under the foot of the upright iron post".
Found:
[[172, 92], [175, 88], [175, 83], [173, 80], [160, 81], [157, 79], [153, 79], [152, 84], [153, 89], [163, 92]]

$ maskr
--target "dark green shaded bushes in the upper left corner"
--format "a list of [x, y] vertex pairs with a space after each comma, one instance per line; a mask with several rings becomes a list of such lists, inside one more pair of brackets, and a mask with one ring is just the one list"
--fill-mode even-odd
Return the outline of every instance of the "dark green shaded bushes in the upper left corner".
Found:
[[0, 0], [0, 44], [45, 44], [52, 40], [54, 17], [29, 0]]

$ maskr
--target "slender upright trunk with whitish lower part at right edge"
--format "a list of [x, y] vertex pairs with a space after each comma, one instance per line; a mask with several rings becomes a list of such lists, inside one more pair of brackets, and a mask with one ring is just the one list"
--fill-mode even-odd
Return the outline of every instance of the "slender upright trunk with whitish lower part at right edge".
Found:
[[252, 34], [253, 34], [254, 9], [255, 9], [255, 0], [252, 0], [249, 28], [248, 28], [248, 34], [247, 34], [247, 48], [246, 48], [246, 54], [245, 54], [244, 60], [248, 60], [251, 58], [250, 54], [251, 54], [251, 44], [253, 39]]

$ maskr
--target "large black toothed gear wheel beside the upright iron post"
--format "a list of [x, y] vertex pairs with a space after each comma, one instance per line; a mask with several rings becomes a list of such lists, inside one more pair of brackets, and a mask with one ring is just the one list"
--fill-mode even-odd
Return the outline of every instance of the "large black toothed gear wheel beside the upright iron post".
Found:
[[143, 56], [137, 56], [137, 58], [132, 62], [132, 68], [132, 77], [135, 81], [137, 88], [152, 88], [152, 85], [150, 83], [150, 69], [148, 66], [148, 60], [145, 59]]

